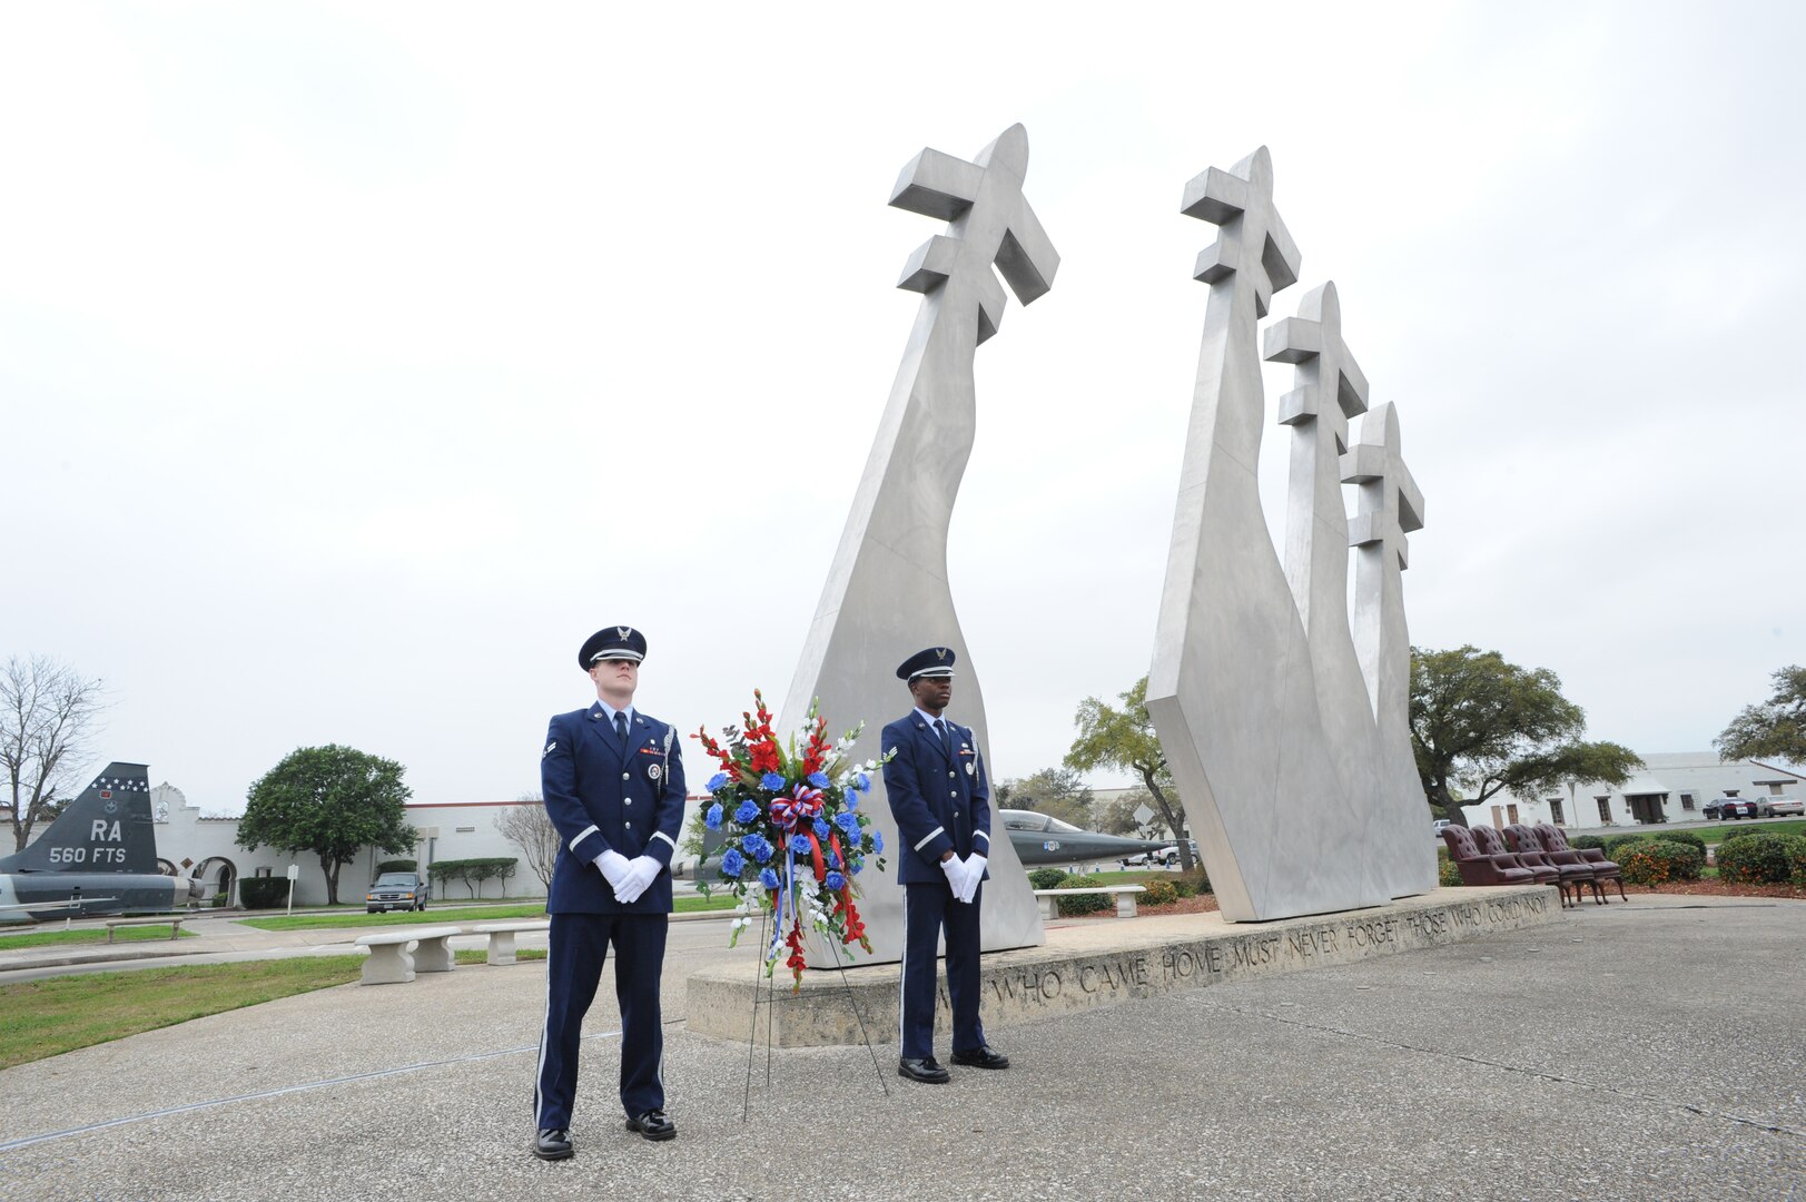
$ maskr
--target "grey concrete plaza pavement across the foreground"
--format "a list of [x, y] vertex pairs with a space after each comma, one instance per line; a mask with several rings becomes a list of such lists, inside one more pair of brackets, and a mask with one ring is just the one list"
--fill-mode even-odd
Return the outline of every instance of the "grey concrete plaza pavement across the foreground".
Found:
[[[1129, 922], [1136, 920], [1089, 920]], [[1466, 944], [1011, 1027], [1008, 1072], [684, 1030], [621, 1128], [591, 1012], [573, 1160], [527, 1153], [545, 967], [345, 985], [0, 1072], [4, 1198], [1806, 1198], [1806, 904], [1638, 895]], [[172, 963], [172, 962], [163, 962]], [[946, 1032], [941, 1032], [945, 1056]]]

